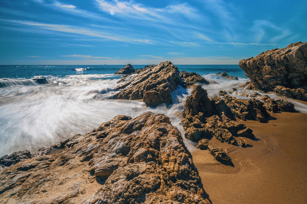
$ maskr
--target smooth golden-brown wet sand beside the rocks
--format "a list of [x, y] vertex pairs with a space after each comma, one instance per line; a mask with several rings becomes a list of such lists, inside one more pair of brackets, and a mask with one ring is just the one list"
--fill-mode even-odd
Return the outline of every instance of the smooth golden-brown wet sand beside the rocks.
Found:
[[234, 167], [222, 165], [208, 150], [192, 152], [213, 204], [307, 203], [307, 114], [270, 113], [269, 123], [241, 121], [257, 139], [253, 147], [220, 143]]

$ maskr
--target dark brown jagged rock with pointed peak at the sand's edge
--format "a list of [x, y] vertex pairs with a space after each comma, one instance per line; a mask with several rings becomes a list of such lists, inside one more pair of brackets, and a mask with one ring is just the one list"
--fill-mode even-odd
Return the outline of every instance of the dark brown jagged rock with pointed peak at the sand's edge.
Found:
[[193, 85], [182, 115], [185, 137], [195, 142], [214, 137], [220, 142], [237, 145], [234, 137], [238, 131], [246, 129], [244, 124], [234, 121], [235, 116], [224, 100], [214, 97], [210, 101], [207, 91], [200, 85]]

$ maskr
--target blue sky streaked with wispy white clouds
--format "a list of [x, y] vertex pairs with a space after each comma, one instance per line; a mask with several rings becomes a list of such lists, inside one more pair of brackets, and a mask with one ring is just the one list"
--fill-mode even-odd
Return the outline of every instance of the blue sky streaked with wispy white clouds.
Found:
[[306, 42], [306, 8], [306, 0], [1, 0], [0, 64], [238, 64]]

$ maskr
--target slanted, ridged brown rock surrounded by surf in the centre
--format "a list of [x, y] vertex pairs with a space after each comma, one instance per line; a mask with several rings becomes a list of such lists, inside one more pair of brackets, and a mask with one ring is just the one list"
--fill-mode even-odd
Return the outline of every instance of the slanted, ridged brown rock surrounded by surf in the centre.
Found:
[[138, 74], [131, 74], [119, 81], [119, 92], [113, 96], [117, 99], [140, 100], [146, 106], [171, 104], [171, 93], [177, 86], [184, 86], [179, 77], [178, 68], [171, 62], [150, 65], [140, 69]]

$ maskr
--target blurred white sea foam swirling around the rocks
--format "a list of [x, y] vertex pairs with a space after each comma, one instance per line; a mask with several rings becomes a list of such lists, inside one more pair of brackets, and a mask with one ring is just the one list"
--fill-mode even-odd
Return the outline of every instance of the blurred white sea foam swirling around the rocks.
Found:
[[[141, 101], [109, 99], [116, 91], [116, 75], [38, 77], [46, 78], [49, 83], [15, 84], [0, 89], [0, 157], [19, 150], [35, 152], [75, 134], [90, 132], [116, 115], [136, 117], [146, 111], [165, 114], [182, 135], [185, 133], [181, 124], [182, 111], [192, 88], [178, 87], [171, 106], [150, 108]], [[244, 92], [250, 91], [243, 89], [246, 78], [226, 80], [211, 74], [205, 78], [210, 84], [202, 87], [208, 91], [209, 98], [218, 96], [220, 90], [236, 88], [236, 97], [245, 97]], [[291, 102], [297, 110], [307, 110], [306, 105]], [[183, 138], [188, 149], [194, 150], [196, 143]]]

